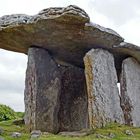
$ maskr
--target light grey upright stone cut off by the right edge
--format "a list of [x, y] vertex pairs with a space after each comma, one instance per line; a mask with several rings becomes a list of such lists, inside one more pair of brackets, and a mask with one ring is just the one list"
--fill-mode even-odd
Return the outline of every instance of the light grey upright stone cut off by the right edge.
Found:
[[140, 64], [134, 58], [123, 61], [120, 86], [125, 123], [140, 127]]

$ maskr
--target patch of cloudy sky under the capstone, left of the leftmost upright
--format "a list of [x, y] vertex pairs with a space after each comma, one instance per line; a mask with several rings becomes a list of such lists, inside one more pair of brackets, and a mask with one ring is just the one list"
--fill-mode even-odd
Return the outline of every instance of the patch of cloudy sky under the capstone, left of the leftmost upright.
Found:
[[0, 49], [0, 103], [24, 111], [27, 56]]

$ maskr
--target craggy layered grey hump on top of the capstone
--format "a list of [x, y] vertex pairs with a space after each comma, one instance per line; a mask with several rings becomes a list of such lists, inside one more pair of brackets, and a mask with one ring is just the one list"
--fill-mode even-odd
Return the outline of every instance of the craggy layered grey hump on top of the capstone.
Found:
[[30, 22], [41, 19], [55, 19], [60, 22], [68, 22], [68, 24], [84, 24], [90, 20], [87, 13], [75, 5], [43, 9], [36, 16], [33, 16]]

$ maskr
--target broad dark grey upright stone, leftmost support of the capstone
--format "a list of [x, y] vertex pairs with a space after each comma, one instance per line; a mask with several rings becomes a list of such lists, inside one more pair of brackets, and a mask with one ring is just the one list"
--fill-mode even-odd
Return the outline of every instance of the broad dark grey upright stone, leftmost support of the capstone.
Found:
[[46, 50], [30, 48], [25, 83], [25, 123], [30, 130], [58, 131], [60, 91], [57, 64]]

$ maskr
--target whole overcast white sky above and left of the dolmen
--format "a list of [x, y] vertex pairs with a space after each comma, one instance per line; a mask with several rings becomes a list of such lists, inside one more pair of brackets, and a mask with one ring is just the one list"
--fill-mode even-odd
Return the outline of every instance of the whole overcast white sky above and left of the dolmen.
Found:
[[[37, 14], [48, 7], [77, 5], [92, 22], [117, 31], [126, 42], [140, 46], [140, 0], [1, 0], [0, 16]], [[0, 49], [0, 103], [24, 111], [25, 54]]]

